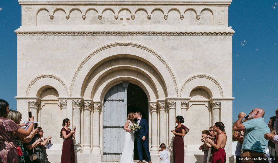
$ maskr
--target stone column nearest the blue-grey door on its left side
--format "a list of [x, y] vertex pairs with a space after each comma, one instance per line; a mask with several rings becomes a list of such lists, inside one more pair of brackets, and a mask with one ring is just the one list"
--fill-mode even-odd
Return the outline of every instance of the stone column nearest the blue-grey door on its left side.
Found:
[[100, 154], [101, 149], [99, 145], [99, 112], [101, 110], [101, 102], [94, 102], [93, 112], [93, 153]]

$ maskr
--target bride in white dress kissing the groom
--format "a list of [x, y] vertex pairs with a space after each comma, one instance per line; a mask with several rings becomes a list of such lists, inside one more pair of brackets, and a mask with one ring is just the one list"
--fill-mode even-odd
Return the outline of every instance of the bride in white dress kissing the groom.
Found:
[[134, 132], [130, 129], [130, 125], [134, 124], [134, 113], [130, 112], [125, 122], [125, 143], [121, 156], [121, 163], [133, 163], [133, 148], [134, 148]]

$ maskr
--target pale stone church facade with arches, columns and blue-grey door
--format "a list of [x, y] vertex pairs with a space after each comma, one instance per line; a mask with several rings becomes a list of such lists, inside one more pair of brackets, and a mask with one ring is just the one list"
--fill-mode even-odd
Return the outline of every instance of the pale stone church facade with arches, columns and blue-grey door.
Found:
[[[17, 110], [32, 111], [50, 162], [60, 162], [62, 120], [76, 126], [77, 162], [119, 162], [129, 106], [148, 119], [152, 162], [165, 143], [172, 160], [175, 117], [185, 117], [185, 162], [201, 162], [201, 131], [225, 124], [232, 154], [230, 0], [19, 0]], [[130, 87], [143, 90], [129, 100]], [[114, 143], [114, 144], [113, 144]]]

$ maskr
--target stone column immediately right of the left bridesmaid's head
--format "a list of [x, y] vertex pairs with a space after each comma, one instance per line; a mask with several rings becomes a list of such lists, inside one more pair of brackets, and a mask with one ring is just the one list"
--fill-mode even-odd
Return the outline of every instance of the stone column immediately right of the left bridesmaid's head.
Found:
[[[73, 125], [76, 126], [75, 132], [75, 148], [81, 148], [81, 107], [83, 104], [83, 99], [81, 100], [73, 100]], [[73, 129], [73, 127], [72, 127]]]

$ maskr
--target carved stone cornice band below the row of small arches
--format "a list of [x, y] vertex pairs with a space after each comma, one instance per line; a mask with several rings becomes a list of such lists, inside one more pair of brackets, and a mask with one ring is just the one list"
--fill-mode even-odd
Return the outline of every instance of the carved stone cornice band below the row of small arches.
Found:
[[219, 32], [219, 31], [200, 31], [200, 32], [186, 32], [186, 31], [15, 31], [17, 35], [89, 35], [89, 36], [110, 36], [110, 35], [140, 35], [140, 36], [232, 36], [235, 32]]

